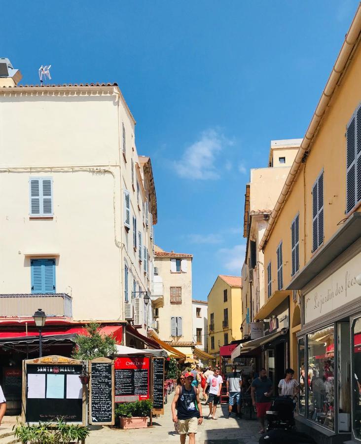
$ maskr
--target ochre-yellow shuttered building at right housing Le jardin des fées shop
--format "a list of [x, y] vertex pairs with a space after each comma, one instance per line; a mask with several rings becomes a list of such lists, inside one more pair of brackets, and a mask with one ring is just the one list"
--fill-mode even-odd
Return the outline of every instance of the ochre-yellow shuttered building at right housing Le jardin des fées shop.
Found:
[[255, 317], [273, 327], [289, 305], [297, 419], [323, 442], [361, 440], [360, 33], [359, 5], [259, 246]]

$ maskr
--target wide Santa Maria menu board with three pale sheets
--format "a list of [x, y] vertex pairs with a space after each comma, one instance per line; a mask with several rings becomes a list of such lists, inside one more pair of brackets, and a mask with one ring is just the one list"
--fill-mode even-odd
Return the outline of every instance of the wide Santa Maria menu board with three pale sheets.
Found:
[[42, 363], [40, 359], [29, 361], [38, 362], [26, 364], [25, 368], [26, 421], [56, 421], [58, 417], [64, 417], [67, 422], [82, 423], [81, 364]]

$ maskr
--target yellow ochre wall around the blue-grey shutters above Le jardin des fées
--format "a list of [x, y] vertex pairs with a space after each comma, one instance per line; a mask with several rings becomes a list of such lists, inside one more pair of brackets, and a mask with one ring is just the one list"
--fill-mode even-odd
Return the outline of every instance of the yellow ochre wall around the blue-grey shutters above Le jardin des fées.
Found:
[[[311, 143], [311, 151], [301, 166], [287, 201], [279, 214], [274, 229], [264, 248], [265, 267], [271, 260], [272, 293], [277, 286], [277, 246], [283, 241], [283, 283], [287, 288], [291, 280], [290, 225], [299, 212], [299, 263], [300, 269], [316, 254], [312, 252], [312, 186], [324, 170], [324, 244], [339, 229], [346, 209], [346, 125], [361, 100], [361, 47], [353, 55], [347, 73], [325, 111], [321, 127]], [[317, 251], [323, 248], [321, 245]], [[267, 282], [267, 276], [265, 276]], [[297, 304], [290, 297], [290, 329]], [[293, 319], [294, 318], [294, 319]], [[295, 326], [293, 326], [294, 329]], [[294, 331], [293, 331], [294, 333]], [[290, 363], [297, 362], [295, 337], [290, 341]]]

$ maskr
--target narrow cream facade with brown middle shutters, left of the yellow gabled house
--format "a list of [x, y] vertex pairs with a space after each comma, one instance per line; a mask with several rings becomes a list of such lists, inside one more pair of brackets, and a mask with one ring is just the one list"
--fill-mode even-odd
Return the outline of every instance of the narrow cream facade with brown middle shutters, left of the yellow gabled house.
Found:
[[164, 293], [163, 307], [155, 309], [157, 334], [184, 355], [193, 356], [193, 256], [166, 252], [157, 245], [154, 255], [154, 286]]

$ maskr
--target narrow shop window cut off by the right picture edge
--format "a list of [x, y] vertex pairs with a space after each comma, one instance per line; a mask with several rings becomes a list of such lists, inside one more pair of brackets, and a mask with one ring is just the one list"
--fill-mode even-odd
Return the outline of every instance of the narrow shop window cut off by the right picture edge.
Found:
[[352, 428], [355, 438], [361, 440], [361, 318], [354, 321], [351, 336], [354, 350], [352, 354]]

